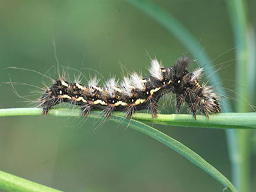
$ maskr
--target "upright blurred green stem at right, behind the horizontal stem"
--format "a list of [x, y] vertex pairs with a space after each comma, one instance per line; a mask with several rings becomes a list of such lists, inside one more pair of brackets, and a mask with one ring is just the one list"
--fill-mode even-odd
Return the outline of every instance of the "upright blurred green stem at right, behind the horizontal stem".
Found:
[[[240, 83], [237, 86], [237, 112], [248, 112], [249, 100], [248, 84], [248, 25], [246, 14], [246, 1], [227, 0], [227, 8], [230, 13], [230, 20], [234, 31], [234, 40], [236, 45], [236, 81]], [[253, 63], [255, 65], [255, 63]], [[250, 131], [236, 130], [230, 131], [235, 139], [234, 149], [232, 151], [232, 176], [234, 184], [238, 191], [250, 191]]]

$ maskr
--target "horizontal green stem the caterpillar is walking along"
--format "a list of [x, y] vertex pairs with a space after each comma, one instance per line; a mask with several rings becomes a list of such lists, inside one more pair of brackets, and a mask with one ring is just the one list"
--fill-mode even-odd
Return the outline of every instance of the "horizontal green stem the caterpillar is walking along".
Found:
[[[0, 109], [0, 116], [35, 116], [41, 115], [41, 108], [12, 108]], [[49, 116], [74, 116], [77, 117], [81, 113], [80, 109], [53, 108], [49, 111]], [[114, 116], [124, 117], [124, 113], [114, 112]], [[204, 115], [196, 115], [196, 120], [192, 115], [171, 114], [158, 115], [152, 118], [148, 113], [135, 113], [132, 119], [140, 122], [173, 125], [182, 127], [205, 127], [218, 129], [256, 129], [256, 113], [220, 113], [218, 115], [210, 115], [207, 119]], [[102, 112], [92, 111], [88, 118], [103, 118]], [[111, 118], [109, 118], [111, 120]], [[124, 118], [125, 119], [125, 118]]]

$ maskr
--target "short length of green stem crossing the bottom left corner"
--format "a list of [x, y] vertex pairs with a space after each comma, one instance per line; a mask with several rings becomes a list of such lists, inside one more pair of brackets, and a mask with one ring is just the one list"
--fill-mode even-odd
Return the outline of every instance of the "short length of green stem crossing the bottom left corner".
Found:
[[61, 192], [2, 171], [0, 171], [0, 188], [13, 192]]

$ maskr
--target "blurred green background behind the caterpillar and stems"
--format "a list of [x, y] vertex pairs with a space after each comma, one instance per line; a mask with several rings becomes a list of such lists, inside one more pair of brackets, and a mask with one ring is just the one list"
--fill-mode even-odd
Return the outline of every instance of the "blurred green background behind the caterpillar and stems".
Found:
[[[234, 79], [234, 61], [221, 65], [234, 59], [235, 48], [223, 0], [154, 2], [182, 22], [209, 56], [216, 58], [218, 68], [223, 67], [218, 71], [223, 84], [216, 82], [216, 86], [232, 90], [244, 86]], [[253, 26], [256, 1], [248, 1], [248, 8]], [[29, 68], [44, 74], [56, 66], [52, 39], [60, 65], [80, 70], [86, 77], [97, 70], [106, 78], [121, 78], [122, 68], [147, 76], [147, 52], [170, 66], [187, 51], [162, 26], [124, 1], [1, 0], [0, 27], [1, 82], [11, 78], [35, 86], [51, 84], [33, 72], [4, 68]], [[72, 69], [66, 71], [71, 80], [77, 75]], [[47, 75], [56, 76], [54, 68]], [[31, 86], [15, 88], [20, 95], [38, 91]], [[17, 97], [10, 84], [2, 84], [0, 90], [0, 108], [35, 106]], [[38, 97], [40, 94], [28, 98]], [[228, 92], [228, 97], [234, 93]], [[174, 109], [165, 106], [162, 111], [173, 113]], [[222, 191], [217, 180], [152, 138], [111, 122], [99, 124], [44, 116], [1, 118], [0, 170], [63, 191]], [[223, 130], [154, 127], [187, 145], [231, 179]], [[252, 151], [252, 191], [256, 191], [255, 147]]]

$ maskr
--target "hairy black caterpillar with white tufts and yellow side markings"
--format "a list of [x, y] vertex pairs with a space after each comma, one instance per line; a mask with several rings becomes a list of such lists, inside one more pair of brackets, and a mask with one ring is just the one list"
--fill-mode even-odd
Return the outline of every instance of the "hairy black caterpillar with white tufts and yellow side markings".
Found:
[[219, 96], [212, 86], [200, 85], [198, 79], [203, 68], [197, 68], [193, 73], [187, 68], [191, 60], [188, 56], [179, 58], [173, 67], [161, 67], [155, 59], [151, 60], [150, 76], [142, 78], [137, 73], [124, 77], [120, 85], [114, 78], [109, 79], [104, 86], [99, 86], [97, 78], [89, 81], [88, 86], [80, 83], [68, 83], [60, 78], [47, 88], [40, 99], [42, 114], [47, 115], [49, 109], [61, 102], [76, 104], [82, 109], [81, 115], [86, 116], [92, 109], [104, 111], [104, 116], [111, 116], [112, 111], [125, 111], [126, 117], [141, 109], [147, 109], [153, 118], [157, 117], [157, 102], [166, 93], [175, 93], [177, 112], [184, 102], [196, 119], [196, 111], [204, 113], [219, 113]]

